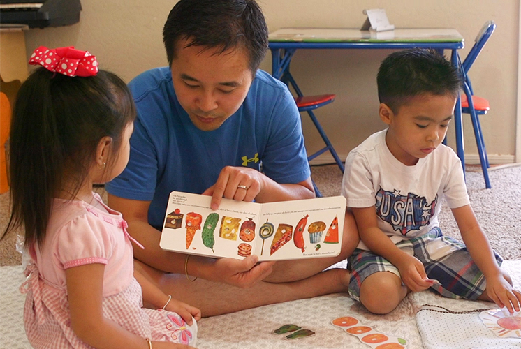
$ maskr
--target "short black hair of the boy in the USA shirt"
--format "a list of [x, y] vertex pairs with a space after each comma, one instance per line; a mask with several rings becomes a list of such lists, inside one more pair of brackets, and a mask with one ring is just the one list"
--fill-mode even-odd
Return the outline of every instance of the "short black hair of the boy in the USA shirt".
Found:
[[421, 94], [457, 96], [462, 80], [450, 61], [435, 50], [411, 49], [390, 54], [382, 61], [378, 97], [392, 112]]

